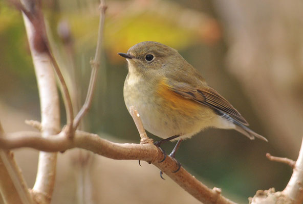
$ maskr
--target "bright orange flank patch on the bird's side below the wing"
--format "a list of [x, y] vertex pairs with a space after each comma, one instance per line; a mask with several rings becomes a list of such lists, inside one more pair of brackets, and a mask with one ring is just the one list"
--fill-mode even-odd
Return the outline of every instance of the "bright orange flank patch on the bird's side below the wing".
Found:
[[160, 98], [163, 98], [162, 106], [167, 107], [168, 110], [178, 110], [182, 111], [182, 114], [191, 115], [202, 109], [198, 102], [172, 91], [165, 79], [161, 80], [156, 92]]

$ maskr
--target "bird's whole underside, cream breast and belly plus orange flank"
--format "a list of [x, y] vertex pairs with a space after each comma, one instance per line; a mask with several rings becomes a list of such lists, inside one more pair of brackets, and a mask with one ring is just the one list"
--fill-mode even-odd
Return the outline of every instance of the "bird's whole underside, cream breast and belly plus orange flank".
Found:
[[158, 137], [191, 136], [211, 126], [213, 111], [175, 93], [165, 82], [128, 76], [124, 83], [124, 101], [129, 111], [135, 106], [144, 128]]

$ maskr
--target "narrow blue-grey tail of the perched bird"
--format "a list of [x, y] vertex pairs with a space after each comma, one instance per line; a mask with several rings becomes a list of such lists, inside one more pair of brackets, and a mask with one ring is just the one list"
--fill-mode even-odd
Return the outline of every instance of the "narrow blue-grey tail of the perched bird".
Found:
[[259, 138], [261, 140], [264, 140], [264, 141], [268, 142], [268, 140], [265, 137], [263, 137], [262, 135], [259, 135], [259, 134], [255, 133], [255, 132], [253, 132], [247, 126], [245, 126], [244, 124], [242, 124], [239, 121], [236, 121], [235, 119], [233, 119], [232, 117], [230, 117], [228, 114], [223, 113], [221, 111], [220, 112], [218, 111], [217, 113], [218, 113], [218, 115], [220, 115], [224, 119], [232, 122], [235, 125], [234, 129], [236, 131], [242, 133], [243, 135], [245, 135], [249, 139], [253, 140], [256, 137], [256, 138]]

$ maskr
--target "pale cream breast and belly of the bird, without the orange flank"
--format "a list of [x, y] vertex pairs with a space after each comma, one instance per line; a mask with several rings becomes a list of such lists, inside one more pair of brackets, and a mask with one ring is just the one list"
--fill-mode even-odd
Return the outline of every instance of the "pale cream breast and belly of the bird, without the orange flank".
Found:
[[135, 106], [145, 130], [158, 137], [168, 138], [180, 135], [180, 137], [188, 138], [206, 127], [214, 126], [218, 119], [210, 108], [203, 105], [198, 105], [199, 109], [194, 111], [184, 111], [184, 108], [178, 106], [172, 107], [167, 98], [157, 95], [155, 87], [146, 86], [147, 84], [143, 83], [153, 84], [126, 78], [125, 105], [128, 111], [130, 106]]

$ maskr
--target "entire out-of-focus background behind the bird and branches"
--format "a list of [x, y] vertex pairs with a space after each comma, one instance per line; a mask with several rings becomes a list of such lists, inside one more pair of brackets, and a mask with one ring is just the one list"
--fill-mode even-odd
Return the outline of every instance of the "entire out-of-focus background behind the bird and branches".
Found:
[[[273, 0], [110, 1], [93, 106], [81, 129], [116, 142], [139, 143], [123, 100], [125, 59], [117, 55], [141, 41], [174, 47], [208, 84], [265, 136], [210, 129], [186, 140], [176, 158], [208, 187], [247, 203], [258, 189], [284, 189], [292, 170], [266, 152], [296, 160], [303, 135], [303, 2]], [[99, 2], [44, 1], [54, 55], [75, 107], [84, 101], [95, 55]], [[66, 119], [61, 103], [62, 125]], [[19, 11], [0, 1], [0, 119], [7, 132], [32, 130], [40, 120], [36, 79]], [[159, 138], [152, 136], [154, 140]], [[163, 145], [170, 152], [175, 144]], [[38, 152], [15, 150], [29, 187]], [[199, 203], [159, 170], [73, 149], [59, 153], [52, 203]]]

